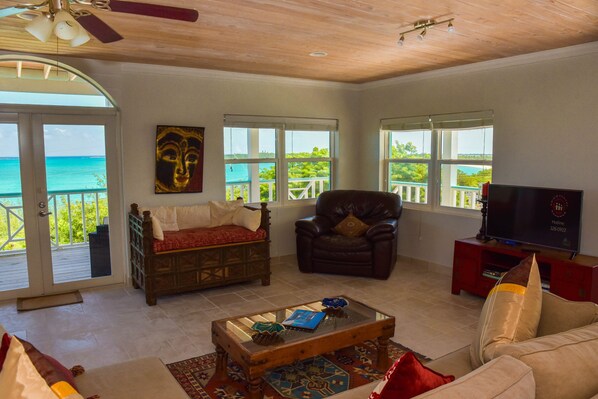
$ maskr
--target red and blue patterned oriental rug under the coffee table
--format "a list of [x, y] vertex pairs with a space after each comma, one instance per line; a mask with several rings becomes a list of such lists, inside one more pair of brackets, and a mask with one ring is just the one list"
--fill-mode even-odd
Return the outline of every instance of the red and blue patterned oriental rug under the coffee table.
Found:
[[[389, 357], [396, 360], [411, 351], [395, 342], [388, 345]], [[412, 352], [412, 351], [411, 351]], [[430, 359], [415, 353], [425, 363]], [[376, 345], [367, 341], [326, 353], [289, 366], [272, 369], [264, 376], [265, 399], [321, 399], [382, 378], [377, 369]], [[213, 379], [216, 353], [194, 357], [166, 366], [191, 399], [243, 399], [249, 397], [243, 369], [228, 363], [228, 379]]]

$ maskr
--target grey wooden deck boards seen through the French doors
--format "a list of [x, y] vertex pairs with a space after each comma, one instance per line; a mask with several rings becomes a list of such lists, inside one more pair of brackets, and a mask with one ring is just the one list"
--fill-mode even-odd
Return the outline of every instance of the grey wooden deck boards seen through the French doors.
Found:
[[[54, 283], [91, 278], [87, 245], [52, 251]], [[0, 256], [0, 291], [27, 288], [29, 279], [25, 254]]]

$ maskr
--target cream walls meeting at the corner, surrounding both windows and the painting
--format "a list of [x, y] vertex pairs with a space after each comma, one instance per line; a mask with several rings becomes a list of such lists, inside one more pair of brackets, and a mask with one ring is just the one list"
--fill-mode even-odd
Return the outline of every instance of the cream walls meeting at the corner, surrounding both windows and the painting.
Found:
[[[598, 255], [598, 45], [356, 85], [64, 59], [102, 84], [122, 110], [124, 204], [224, 198], [224, 114], [338, 118], [337, 188], [377, 190], [381, 118], [493, 109], [494, 181], [585, 191], [581, 250]], [[204, 126], [204, 192], [155, 195], [158, 124]], [[313, 205], [272, 208], [272, 254], [295, 252], [294, 221]], [[399, 253], [452, 264], [453, 242], [479, 217], [406, 209]]]

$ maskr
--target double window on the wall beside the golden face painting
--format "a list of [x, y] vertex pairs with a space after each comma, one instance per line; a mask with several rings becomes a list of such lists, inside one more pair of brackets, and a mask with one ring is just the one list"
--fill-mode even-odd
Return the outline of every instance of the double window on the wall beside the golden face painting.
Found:
[[225, 115], [226, 198], [289, 202], [332, 188], [333, 119]]

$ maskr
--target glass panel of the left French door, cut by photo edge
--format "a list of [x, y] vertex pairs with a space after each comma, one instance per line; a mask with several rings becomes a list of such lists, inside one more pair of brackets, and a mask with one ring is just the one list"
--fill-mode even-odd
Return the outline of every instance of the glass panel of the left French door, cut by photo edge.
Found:
[[0, 123], [0, 292], [29, 288], [17, 123]]

